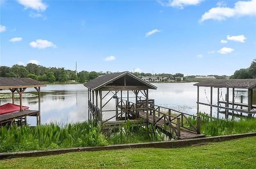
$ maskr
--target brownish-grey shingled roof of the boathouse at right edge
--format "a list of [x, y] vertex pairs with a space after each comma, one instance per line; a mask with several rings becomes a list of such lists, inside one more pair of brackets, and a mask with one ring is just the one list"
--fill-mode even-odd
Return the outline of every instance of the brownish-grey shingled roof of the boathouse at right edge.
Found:
[[203, 87], [229, 87], [253, 89], [256, 87], [256, 79], [215, 79], [205, 80], [194, 84]]

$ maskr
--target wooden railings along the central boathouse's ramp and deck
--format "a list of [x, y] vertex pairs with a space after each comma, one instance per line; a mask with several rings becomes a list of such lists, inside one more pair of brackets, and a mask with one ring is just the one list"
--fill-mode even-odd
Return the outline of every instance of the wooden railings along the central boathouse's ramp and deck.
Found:
[[[141, 97], [138, 100], [138, 104], [136, 106], [136, 103], [133, 103], [131, 101], [127, 101], [125, 99], [116, 98], [118, 106], [121, 108], [121, 110], [125, 113], [125, 120], [128, 114], [128, 111], [132, 111], [137, 117], [140, 117], [140, 111], [146, 110], [146, 101], [143, 97]], [[197, 115], [190, 115], [188, 113], [183, 113], [181, 111], [162, 107], [159, 105], [154, 105], [153, 99], [148, 99], [149, 105], [148, 105], [148, 113], [149, 115], [153, 116], [153, 125], [165, 125], [169, 127], [169, 129], [172, 129], [177, 136], [180, 136], [180, 129], [186, 129], [195, 133], [200, 134], [200, 123], [201, 123], [201, 117]], [[156, 117], [158, 117], [156, 119]], [[189, 118], [191, 117], [191, 118]], [[161, 122], [163, 119], [164, 123]], [[196, 119], [196, 122], [194, 123], [191, 121], [191, 119]], [[149, 121], [149, 119], [147, 119]]]

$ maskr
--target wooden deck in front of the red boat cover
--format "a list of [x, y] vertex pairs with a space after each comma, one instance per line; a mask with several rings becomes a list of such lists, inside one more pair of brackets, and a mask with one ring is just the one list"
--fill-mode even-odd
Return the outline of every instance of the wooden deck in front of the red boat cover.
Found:
[[0, 123], [5, 123], [8, 121], [12, 121], [14, 119], [20, 119], [26, 116], [38, 116], [39, 110], [24, 110], [24, 111], [17, 111], [14, 113], [6, 113], [0, 115]]

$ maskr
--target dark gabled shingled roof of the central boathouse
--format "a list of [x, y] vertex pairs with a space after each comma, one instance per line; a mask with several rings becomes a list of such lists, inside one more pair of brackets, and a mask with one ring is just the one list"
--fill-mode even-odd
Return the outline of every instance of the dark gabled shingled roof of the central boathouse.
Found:
[[130, 85], [144, 85], [144, 86], [147, 86], [148, 89], [156, 89], [157, 88], [156, 86], [154, 86], [148, 82], [145, 82], [144, 80], [141, 80], [140, 78], [134, 76], [133, 74], [131, 74], [128, 71], [114, 73], [114, 74], [101, 75], [101, 76], [85, 83], [84, 86], [88, 87], [89, 89], [92, 89], [92, 90], [98, 90], [103, 86], [114, 85], [113, 82], [116, 82], [116, 85], [120, 84], [120, 82], [118, 82], [118, 80], [124, 76], [127, 76], [129, 78], [129, 81], [127, 81], [127, 83], [128, 83], [127, 86], [129, 86], [129, 83], [130, 83]]

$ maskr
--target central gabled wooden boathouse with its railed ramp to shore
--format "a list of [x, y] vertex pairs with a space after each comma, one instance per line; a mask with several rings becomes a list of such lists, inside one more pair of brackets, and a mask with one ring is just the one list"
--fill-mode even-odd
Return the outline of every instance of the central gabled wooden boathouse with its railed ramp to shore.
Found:
[[[88, 119], [104, 127], [116, 127], [129, 119], [140, 125], [152, 124], [167, 135], [175, 133], [179, 139], [204, 137], [200, 133], [200, 116], [155, 105], [148, 93], [157, 87], [128, 71], [99, 76], [84, 86], [88, 88]], [[188, 117], [196, 118], [196, 125]]]

